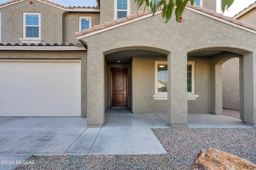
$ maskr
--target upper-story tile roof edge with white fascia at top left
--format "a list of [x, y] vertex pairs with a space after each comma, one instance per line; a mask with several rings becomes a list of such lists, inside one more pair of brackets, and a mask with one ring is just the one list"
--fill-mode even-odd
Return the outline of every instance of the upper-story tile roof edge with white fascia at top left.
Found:
[[[11, 1], [8, 1], [8, 2], [4, 2], [2, 4], [0, 4], [0, 8], [2, 7], [5, 7], [5, 6], [8, 6], [8, 5], [12, 5], [12, 4], [16, 4], [18, 2], [22, 2], [22, 1], [25, 1], [25, 0], [11, 0]], [[49, 4], [51, 6], [54, 6], [54, 7], [57, 7], [57, 8], [61, 8], [63, 10], [66, 10], [66, 11], [70, 11], [70, 12], [74, 12], [74, 11], [77, 11], [77, 12], [100, 12], [100, 8], [98, 6], [93, 6], [93, 7], [81, 7], [81, 6], [69, 6], [69, 7], [66, 7], [64, 5], [61, 5], [61, 4], [57, 4], [55, 2], [52, 2], [52, 1], [49, 1], [49, 0], [37, 0], [39, 2], [44, 2], [46, 4]]]

